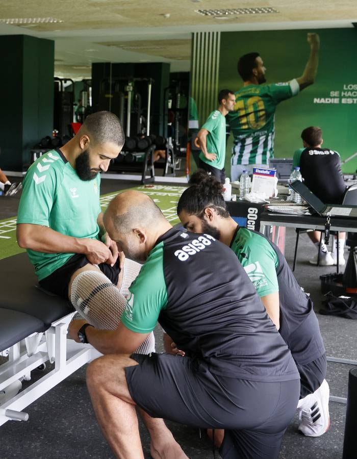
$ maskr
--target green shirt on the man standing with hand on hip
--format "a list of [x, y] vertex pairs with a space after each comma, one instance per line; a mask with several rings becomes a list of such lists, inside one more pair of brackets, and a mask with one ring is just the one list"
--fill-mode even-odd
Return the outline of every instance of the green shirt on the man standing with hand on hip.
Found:
[[215, 161], [208, 160], [202, 151], [199, 153], [199, 158], [216, 169], [222, 170], [225, 160], [225, 116], [219, 110], [215, 110], [207, 118], [201, 129], [207, 129], [209, 134], [206, 137], [207, 151], [215, 153], [217, 158]]

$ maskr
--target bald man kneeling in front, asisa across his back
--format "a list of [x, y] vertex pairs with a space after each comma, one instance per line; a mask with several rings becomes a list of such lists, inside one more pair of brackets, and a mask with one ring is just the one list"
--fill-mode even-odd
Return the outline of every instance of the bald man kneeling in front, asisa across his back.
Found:
[[[87, 328], [88, 341], [113, 354], [89, 365], [87, 385], [116, 457], [143, 458], [137, 405], [153, 425], [225, 428], [224, 458], [276, 458], [299, 374], [235, 254], [210, 235], [172, 228], [136, 191], [111, 201], [104, 224], [125, 256], [144, 262], [116, 330]], [[157, 321], [184, 357], [133, 354]], [[187, 457], [172, 440], [164, 433], [167, 448], [151, 448], [152, 457]]]

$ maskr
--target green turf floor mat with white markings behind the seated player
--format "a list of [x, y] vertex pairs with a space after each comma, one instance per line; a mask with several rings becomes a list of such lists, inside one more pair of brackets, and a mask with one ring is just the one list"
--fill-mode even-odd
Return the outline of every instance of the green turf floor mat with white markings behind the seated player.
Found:
[[[179, 222], [176, 215], [176, 205], [185, 187], [166, 186], [166, 185], [142, 185], [140, 187], [130, 188], [146, 193], [153, 199], [158, 207], [162, 210], [167, 220], [174, 225]], [[118, 193], [125, 190], [116, 191], [114, 193], [104, 194], [100, 196], [100, 206], [104, 211], [109, 202]], [[16, 242], [16, 217], [7, 218], [0, 221], [0, 260], [12, 257], [17, 253], [23, 252]]]

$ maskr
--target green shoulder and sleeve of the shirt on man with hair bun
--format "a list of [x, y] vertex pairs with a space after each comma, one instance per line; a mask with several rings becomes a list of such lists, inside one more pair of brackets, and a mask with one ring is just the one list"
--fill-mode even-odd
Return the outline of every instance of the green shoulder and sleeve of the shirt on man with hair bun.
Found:
[[264, 237], [238, 226], [231, 242], [231, 249], [237, 255], [260, 297], [279, 291], [276, 276], [279, 259]]

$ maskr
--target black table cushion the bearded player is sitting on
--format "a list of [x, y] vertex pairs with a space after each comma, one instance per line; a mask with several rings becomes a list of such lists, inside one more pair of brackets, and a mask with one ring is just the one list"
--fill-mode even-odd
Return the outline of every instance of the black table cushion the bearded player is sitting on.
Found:
[[0, 308], [34, 316], [47, 327], [74, 311], [69, 301], [38, 288], [35, 268], [27, 253], [0, 260], [0, 278]]

